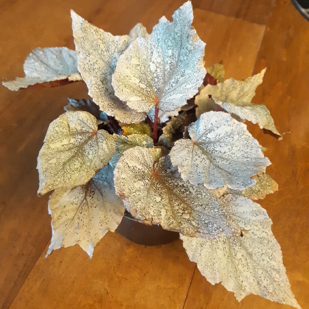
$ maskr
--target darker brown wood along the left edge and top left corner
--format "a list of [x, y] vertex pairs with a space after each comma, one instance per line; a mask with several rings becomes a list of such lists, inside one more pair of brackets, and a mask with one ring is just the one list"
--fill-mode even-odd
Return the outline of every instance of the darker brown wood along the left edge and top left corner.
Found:
[[[139, 21], [150, 31], [183, 1], [11, 2], [0, 19], [0, 76], [23, 76], [23, 61], [40, 47], [74, 49], [70, 9], [113, 34], [125, 34]], [[114, 14], [118, 7], [117, 14]], [[133, 14], [134, 11], [134, 14]], [[150, 13], [147, 13], [150, 12]], [[147, 19], [147, 14], [151, 18]], [[145, 17], [146, 16], [146, 17]], [[119, 23], [118, 20], [122, 20]], [[0, 308], [8, 308], [51, 237], [48, 197], [38, 198], [36, 157], [51, 121], [63, 113], [66, 98], [88, 98], [84, 83], [53, 89], [9, 91], [0, 86]]]

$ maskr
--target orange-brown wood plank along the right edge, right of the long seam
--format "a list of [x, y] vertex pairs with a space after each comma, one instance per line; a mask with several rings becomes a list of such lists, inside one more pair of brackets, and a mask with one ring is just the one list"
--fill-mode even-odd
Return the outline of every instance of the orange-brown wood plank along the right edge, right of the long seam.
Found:
[[[254, 73], [267, 67], [254, 103], [265, 104], [282, 141], [264, 135], [257, 125], [248, 128], [273, 163], [267, 173], [279, 191], [259, 203], [273, 220], [272, 231], [281, 245], [283, 263], [299, 305], [309, 308], [309, 23], [290, 1], [277, 1], [269, 18]], [[289, 308], [259, 296], [240, 303], [221, 284], [212, 286], [196, 270], [184, 309]]]

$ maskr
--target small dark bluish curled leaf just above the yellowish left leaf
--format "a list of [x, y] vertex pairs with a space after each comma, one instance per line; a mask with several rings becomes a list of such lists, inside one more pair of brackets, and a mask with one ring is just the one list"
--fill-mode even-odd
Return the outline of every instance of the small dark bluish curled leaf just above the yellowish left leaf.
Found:
[[95, 104], [95, 102], [91, 100], [74, 100], [68, 98], [68, 104], [64, 107], [66, 112], [73, 111], [84, 111], [91, 113], [91, 115], [95, 116], [96, 119], [107, 121], [107, 114], [100, 110], [99, 105]]

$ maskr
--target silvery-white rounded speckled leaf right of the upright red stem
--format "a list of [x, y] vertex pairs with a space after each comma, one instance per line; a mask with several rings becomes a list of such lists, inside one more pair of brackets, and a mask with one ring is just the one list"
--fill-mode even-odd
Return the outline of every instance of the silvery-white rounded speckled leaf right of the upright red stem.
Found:
[[208, 189], [246, 189], [270, 165], [246, 125], [225, 112], [207, 112], [188, 128], [191, 139], [175, 142], [170, 156], [184, 181]]

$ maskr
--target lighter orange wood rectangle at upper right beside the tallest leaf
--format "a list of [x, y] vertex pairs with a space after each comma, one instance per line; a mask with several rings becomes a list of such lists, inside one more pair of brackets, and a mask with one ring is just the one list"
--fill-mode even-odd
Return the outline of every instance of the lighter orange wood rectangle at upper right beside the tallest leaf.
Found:
[[205, 67], [223, 61], [226, 78], [251, 76], [265, 26], [201, 9], [193, 12], [193, 25], [206, 43]]

